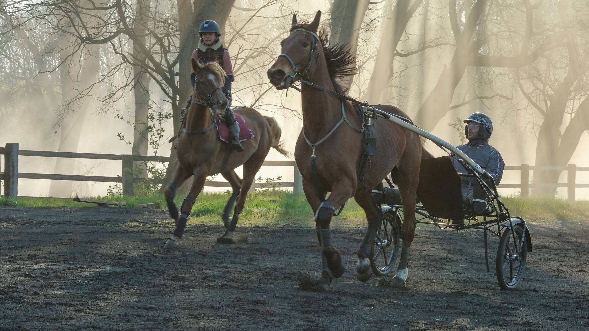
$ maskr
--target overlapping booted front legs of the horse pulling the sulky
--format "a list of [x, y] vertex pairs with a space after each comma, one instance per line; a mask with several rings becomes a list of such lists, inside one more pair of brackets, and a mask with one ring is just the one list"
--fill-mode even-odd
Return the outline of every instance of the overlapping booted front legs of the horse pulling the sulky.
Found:
[[[316, 194], [315, 184], [303, 183], [303, 189], [305, 195], [308, 197], [309, 194]], [[307, 193], [308, 192], [308, 193]], [[352, 197], [353, 189], [352, 186], [346, 184], [340, 184], [332, 187], [332, 193], [329, 195], [326, 201], [319, 204], [315, 211], [315, 225], [317, 226], [317, 237], [319, 237], [319, 243], [321, 245], [321, 259], [322, 259], [322, 276], [320, 280], [339, 278], [345, 270], [342, 258], [342, 252], [333, 245], [332, 231], [330, 229], [330, 223], [332, 217], [335, 215], [336, 208], [343, 206], [350, 197]]]

